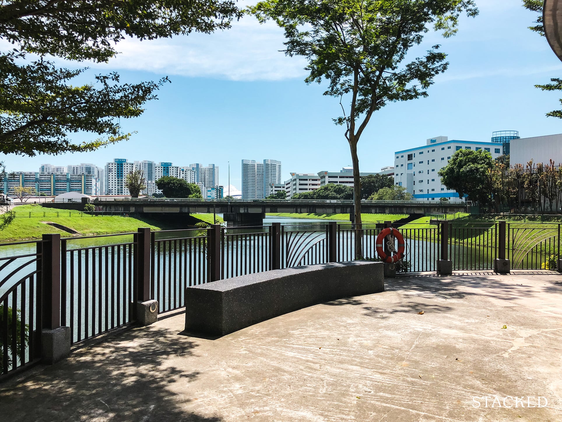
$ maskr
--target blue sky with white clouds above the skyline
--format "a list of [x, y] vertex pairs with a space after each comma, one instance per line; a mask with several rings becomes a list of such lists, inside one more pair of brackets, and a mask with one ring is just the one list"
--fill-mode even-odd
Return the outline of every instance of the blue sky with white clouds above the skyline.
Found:
[[[560, 109], [560, 93], [534, 84], [560, 77], [562, 63], [546, 39], [531, 32], [536, 14], [519, 0], [476, 0], [479, 16], [464, 17], [455, 37], [428, 33], [413, 53], [441, 44], [450, 62], [429, 88], [429, 97], [390, 103], [377, 111], [359, 141], [361, 172], [393, 164], [393, 152], [435, 136], [489, 141], [493, 131], [515, 130], [521, 137], [562, 132], [562, 120], [546, 117]], [[239, 3], [242, 5], [243, 3]], [[351, 164], [338, 98], [323, 96], [323, 86], [306, 85], [306, 62], [286, 57], [283, 33], [253, 17], [214, 34], [117, 44], [120, 55], [90, 66], [81, 83], [96, 74], [118, 71], [122, 82], [169, 76], [135, 119], [122, 119], [130, 141], [98, 151], [34, 157], [0, 154], [9, 171], [37, 171], [41, 164], [93, 163], [114, 158], [219, 165], [219, 182], [241, 187], [241, 160], [282, 161], [283, 179], [291, 172], [338, 171]], [[1, 46], [0, 46], [1, 47]], [[97, 136], [72, 134], [75, 141]]]

